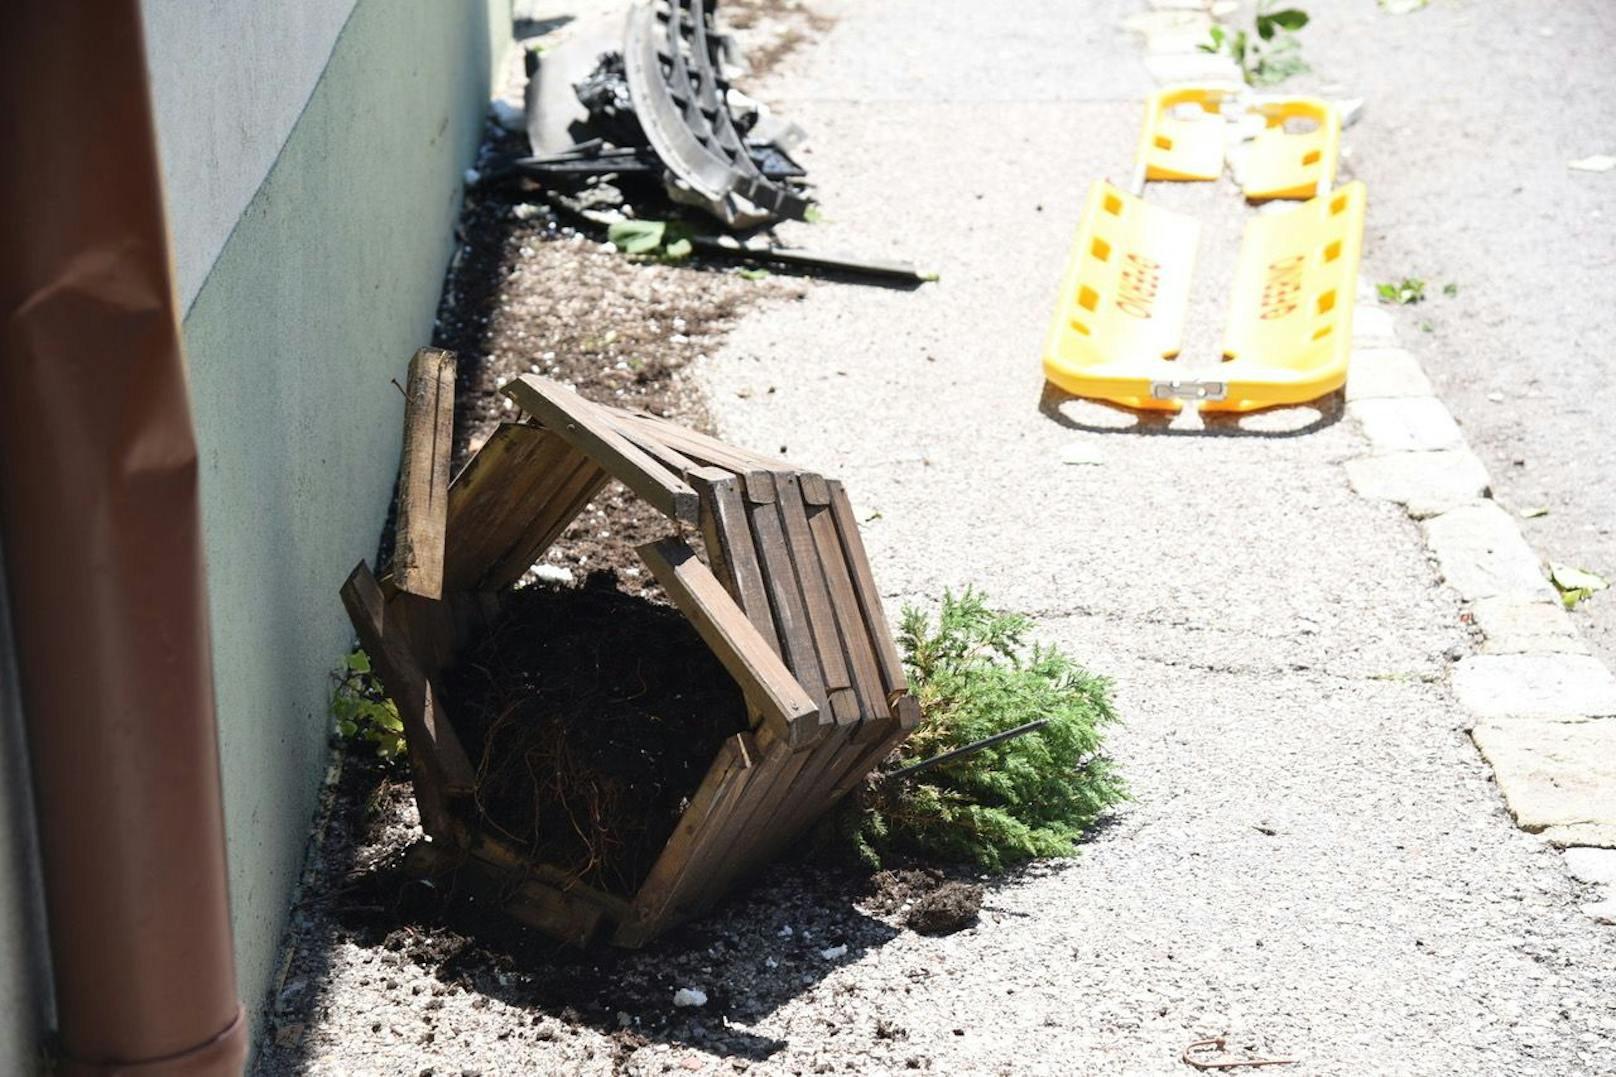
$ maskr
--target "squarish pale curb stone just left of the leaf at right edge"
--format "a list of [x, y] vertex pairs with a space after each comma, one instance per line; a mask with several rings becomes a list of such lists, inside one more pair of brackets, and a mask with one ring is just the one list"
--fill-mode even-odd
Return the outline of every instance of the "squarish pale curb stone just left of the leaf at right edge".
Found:
[[1495, 501], [1477, 501], [1427, 519], [1425, 543], [1437, 556], [1441, 579], [1466, 602], [1496, 595], [1555, 600], [1555, 589], [1532, 547]]

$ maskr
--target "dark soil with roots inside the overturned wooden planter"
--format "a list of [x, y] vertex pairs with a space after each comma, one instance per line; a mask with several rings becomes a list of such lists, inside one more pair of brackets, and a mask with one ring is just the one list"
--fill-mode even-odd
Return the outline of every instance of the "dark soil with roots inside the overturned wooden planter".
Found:
[[682, 615], [616, 585], [512, 592], [443, 689], [483, 823], [632, 896], [747, 708]]

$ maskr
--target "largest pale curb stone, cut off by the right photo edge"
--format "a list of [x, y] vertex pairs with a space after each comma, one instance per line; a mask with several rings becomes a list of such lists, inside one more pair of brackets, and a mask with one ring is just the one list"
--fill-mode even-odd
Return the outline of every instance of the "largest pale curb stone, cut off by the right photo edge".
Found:
[[1616, 836], [1616, 721], [1483, 721], [1471, 736], [1521, 830], [1592, 823]]

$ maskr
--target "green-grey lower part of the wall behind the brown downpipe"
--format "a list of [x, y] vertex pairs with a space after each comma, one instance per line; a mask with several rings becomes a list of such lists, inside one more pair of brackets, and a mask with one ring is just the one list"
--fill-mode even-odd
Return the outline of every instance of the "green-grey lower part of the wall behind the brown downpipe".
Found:
[[[186, 317], [242, 998], [275, 972], [326, 765], [336, 590], [370, 558], [410, 353], [509, 37], [499, 3], [360, 0]], [[183, 207], [171, 207], [183, 212]]]

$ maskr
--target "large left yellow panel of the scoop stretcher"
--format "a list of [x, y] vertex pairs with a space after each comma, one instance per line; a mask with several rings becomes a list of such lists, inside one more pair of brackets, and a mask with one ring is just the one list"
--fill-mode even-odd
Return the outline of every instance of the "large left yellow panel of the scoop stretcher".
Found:
[[1201, 225], [1096, 183], [1044, 340], [1044, 375], [1078, 396], [1176, 409], [1152, 385], [1178, 377]]

